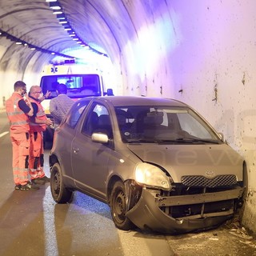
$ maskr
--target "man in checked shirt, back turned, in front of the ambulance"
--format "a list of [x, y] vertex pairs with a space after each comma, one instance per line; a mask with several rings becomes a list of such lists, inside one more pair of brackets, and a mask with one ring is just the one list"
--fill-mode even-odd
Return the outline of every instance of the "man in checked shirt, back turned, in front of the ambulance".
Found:
[[50, 114], [54, 117], [54, 126], [59, 126], [74, 101], [68, 97], [66, 85], [60, 83], [56, 87], [57, 97], [50, 100]]

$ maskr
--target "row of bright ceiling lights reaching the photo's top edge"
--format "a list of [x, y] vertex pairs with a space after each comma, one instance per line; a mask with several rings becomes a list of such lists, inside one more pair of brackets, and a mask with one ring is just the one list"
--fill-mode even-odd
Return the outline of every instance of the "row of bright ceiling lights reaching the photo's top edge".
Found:
[[70, 25], [68, 18], [66, 18], [66, 14], [64, 14], [62, 6], [60, 2], [58, 2], [58, 0], [46, 0], [46, 2], [49, 3], [49, 7], [51, 10], [53, 10], [53, 14], [56, 15], [56, 18], [58, 19], [58, 23], [64, 27], [64, 30], [66, 30], [66, 32], [70, 35], [70, 38], [76, 41], [80, 46], [88, 47], [90, 50], [94, 51], [95, 53], [101, 54], [107, 57], [106, 54], [98, 50], [95, 50], [93, 47], [89, 46], [86, 42], [83, 42], [83, 40], [78, 37], [78, 34], [76, 34], [74, 28]]

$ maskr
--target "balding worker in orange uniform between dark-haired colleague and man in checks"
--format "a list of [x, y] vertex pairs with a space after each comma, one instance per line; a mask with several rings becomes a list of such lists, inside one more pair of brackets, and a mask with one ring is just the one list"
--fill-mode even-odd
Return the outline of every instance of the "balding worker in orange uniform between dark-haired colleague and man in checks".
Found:
[[43, 170], [44, 150], [43, 150], [43, 131], [46, 126], [53, 122], [46, 117], [46, 113], [41, 105], [42, 90], [40, 86], [31, 86], [30, 102], [34, 109], [34, 115], [30, 118], [30, 177], [34, 184], [45, 184], [50, 182], [50, 178], [46, 177]]

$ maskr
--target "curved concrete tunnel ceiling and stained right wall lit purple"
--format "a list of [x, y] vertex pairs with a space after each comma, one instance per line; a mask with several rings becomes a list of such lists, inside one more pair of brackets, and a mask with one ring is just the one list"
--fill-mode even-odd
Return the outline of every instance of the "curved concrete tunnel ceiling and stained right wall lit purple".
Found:
[[[85, 56], [115, 95], [186, 102], [246, 159], [242, 223], [256, 231], [254, 0], [0, 1], [0, 108], [14, 82]], [[74, 40], [74, 35], [76, 40]]]

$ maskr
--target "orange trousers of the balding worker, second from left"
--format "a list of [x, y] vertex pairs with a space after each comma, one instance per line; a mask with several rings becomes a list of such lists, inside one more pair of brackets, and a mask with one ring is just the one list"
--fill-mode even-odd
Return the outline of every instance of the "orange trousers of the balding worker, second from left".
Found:
[[31, 180], [34, 178], [42, 178], [46, 174], [43, 170], [43, 137], [42, 132], [30, 131], [30, 177]]

